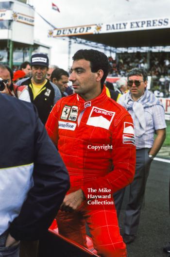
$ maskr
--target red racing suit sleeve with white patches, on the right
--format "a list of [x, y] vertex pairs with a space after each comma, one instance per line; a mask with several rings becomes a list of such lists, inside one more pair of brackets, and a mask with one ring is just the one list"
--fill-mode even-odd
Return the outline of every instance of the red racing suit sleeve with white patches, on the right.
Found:
[[[116, 120], [115, 120], [116, 122]], [[104, 177], [99, 177], [95, 181], [84, 184], [82, 190], [85, 198], [89, 194], [87, 188], [111, 189], [114, 193], [121, 188], [126, 187], [133, 181], [136, 167], [136, 147], [134, 138], [133, 120], [129, 114], [123, 119], [117, 121], [119, 124], [112, 133], [112, 160], [113, 171], [110, 171]]]

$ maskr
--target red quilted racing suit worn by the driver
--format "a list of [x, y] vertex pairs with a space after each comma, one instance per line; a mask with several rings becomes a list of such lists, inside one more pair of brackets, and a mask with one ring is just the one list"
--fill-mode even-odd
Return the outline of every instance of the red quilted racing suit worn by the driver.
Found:
[[[51, 111], [46, 128], [68, 169], [68, 193], [82, 188], [88, 199], [89, 190], [98, 192], [107, 188], [113, 194], [133, 181], [136, 164], [133, 121], [122, 106], [107, 97], [105, 87], [88, 102], [77, 94], [60, 99]], [[80, 214], [60, 211], [57, 217], [60, 233], [85, 245], [82, 220], [86, 219], [98, 254], [125, 257], [126, 247], [119, 234], [115, 206], [111, 209], [108, 211], [104, 205], [91, 209], [86, 200], [78, 210], [81, 218]], [[71, 222], [75, 233], [69, 230]]]

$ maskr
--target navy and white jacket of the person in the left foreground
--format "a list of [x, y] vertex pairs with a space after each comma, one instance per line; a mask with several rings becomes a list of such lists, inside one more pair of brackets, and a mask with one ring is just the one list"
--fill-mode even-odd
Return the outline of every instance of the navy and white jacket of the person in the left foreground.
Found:
[[0, 235], [36, 240], [69, 188], [66, 167], [32, 103], [0, 93]]

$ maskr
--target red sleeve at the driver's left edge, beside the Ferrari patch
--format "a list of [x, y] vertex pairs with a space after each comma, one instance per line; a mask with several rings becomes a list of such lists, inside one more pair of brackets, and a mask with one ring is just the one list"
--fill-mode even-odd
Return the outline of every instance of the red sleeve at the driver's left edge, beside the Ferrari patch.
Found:
[[46, 122], [46, 130], [55, 146], [58, 143], [58, 115], [60, 109], [60, 100], [54, 105]]

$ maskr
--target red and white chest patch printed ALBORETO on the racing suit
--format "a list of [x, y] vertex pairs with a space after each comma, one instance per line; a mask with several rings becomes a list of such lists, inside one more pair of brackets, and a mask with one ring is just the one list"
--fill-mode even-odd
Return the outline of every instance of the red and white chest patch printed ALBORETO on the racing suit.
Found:
[[87, 125], [109, 129], [115, 112], [107, 111], [93, 106], [87, 120]]

